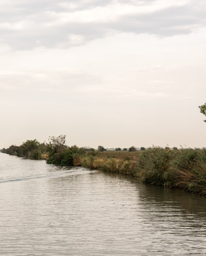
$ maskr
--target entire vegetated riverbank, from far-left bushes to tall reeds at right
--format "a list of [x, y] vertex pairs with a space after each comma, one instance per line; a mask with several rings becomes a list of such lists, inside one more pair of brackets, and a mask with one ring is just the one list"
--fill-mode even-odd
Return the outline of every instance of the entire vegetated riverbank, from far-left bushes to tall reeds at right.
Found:
[[[85, 151], [76, 145], [65, 145], [65, 136], [49, 137], [49, 143], [27, 140], [11, 145], [2, 153], [29, 159], [45, 159], [62, 166], [83, 166], [90, 169], [133, 175], [147, 184], [178, 187], [206, 196], [206, 149], [175, 150], [153, 147], [146, 151]], [[133, 154], [136, 159], [133, 159]]]

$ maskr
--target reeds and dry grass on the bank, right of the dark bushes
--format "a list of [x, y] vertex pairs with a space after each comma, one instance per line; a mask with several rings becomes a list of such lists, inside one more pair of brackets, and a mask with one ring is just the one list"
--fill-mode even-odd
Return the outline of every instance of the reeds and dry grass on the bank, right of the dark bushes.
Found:
[[[171, 150], [160, 147], [143, 152], [86, 154], [76, 163], [83, 167], [139, 177], [147, 184], [178, 187], [206, 196], [206, 150]], [[75, 164], [75, 161], [74, 161]]]

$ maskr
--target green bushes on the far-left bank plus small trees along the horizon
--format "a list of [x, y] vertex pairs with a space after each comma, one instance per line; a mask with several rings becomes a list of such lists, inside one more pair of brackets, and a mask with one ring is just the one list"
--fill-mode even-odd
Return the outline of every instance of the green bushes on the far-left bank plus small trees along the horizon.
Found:
[[[65, 145], [65, 137], [65, 135], [51, 136], [48, 139], [48, 143], [40, 143], [36, 139], [27, 140], [20, 146], [11, 145], [8, 148], [3, 148], [0, 152], [27, 159], [44, 159], [47, 160], [47, 163], [55, 165], [73, 165], [73, 161], [78, 158], [77, 156], [83, 156], [86, 153], [88, 155], [97, 155], [98, 152], [107, 151], [103, 146], [98, 146], [97, 151], [90, 147], [67, 146]], [[144, 151], [146, 149], [141, 147], [141, 150]], [[115, 148], [115, 151], [121, 151], [121, 148]], [[127, 151], [127, 148], [123, 148], [123, 151]], [[136, 148], [131, 146], [129, 151], [135, 152]]]

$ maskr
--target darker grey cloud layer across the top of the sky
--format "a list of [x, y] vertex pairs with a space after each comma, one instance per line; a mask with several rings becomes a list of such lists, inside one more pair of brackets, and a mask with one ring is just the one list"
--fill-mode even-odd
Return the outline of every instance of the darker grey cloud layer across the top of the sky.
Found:
[[68, 48], [108, 34], [188, 34], [205, 26], [204, 0], [4, 0], [0, 43], [12, 49]]

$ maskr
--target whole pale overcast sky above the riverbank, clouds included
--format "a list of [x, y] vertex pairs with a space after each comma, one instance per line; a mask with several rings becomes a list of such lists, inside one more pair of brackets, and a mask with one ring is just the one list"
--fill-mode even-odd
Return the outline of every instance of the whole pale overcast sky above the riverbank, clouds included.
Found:
[[0, 148], [206, 146], [205, 0], [0, 0]]

